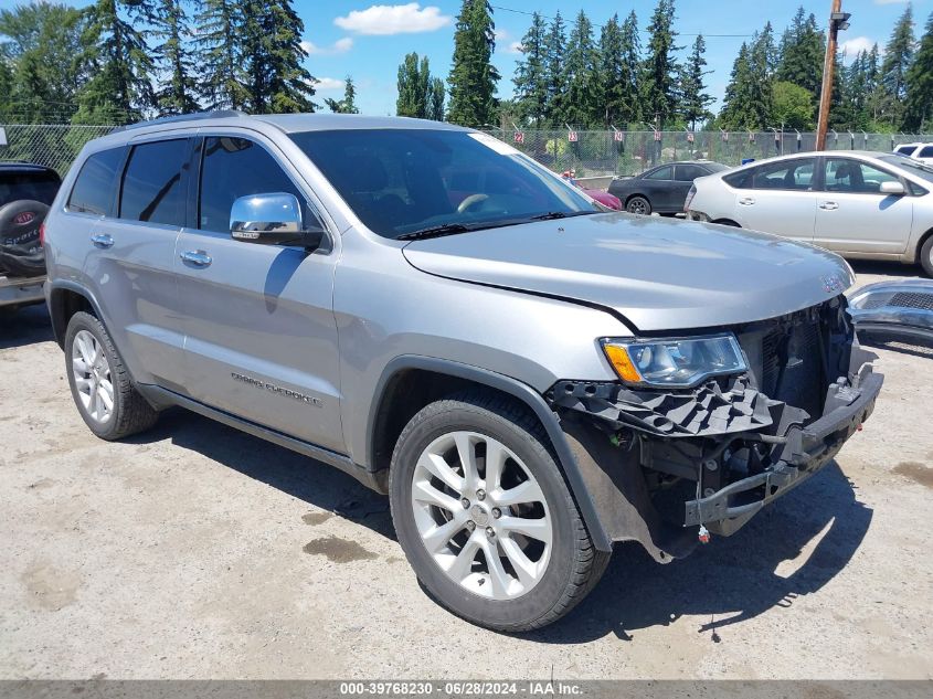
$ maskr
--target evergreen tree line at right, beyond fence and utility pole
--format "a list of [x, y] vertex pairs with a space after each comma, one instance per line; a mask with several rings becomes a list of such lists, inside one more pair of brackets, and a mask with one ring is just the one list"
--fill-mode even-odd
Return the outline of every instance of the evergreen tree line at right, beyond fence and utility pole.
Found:
[[[515, 98], [500, 118], [534, 128], [644, 128], [698, 125], [725, 130], [812, 129], [826, 54], [826, 34], [801, 7], [775, 38], [768, 22], [739, 50], [719, 114], [708, 93], [706, 40], [686, 55], [677, 45], [675, 1], [658, 0], [644, 45], [636, 13], [614, 14], [596, 35], [581, 11], [569, 31], [560, 12], [534, 12], [521, 41]], [[933, 127], [933, 14], [920, 39], [908, 4], [884, 50], [859, 51], [849, 65], [835, 56], [830, 126], [871, 131]]]

